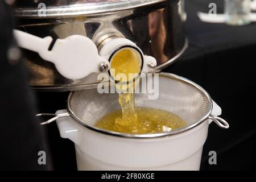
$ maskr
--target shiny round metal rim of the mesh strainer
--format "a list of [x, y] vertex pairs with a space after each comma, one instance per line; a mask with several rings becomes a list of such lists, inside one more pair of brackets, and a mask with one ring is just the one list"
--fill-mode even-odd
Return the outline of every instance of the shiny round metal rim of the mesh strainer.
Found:
[[[185, 82], [186, 84], [190, 84], [192, 86], [195, 86], [197, 89], [200, 90], [200, 92], [202, 92], [203, 94], [205, 94], [205, 97], [207, 98], [207, 101], [209, 103], [209, 107], [207, 110], [207, 113], [204, 115], [204, 117], [202, 117], [201, 119], [199, 119], [199, 121], [193, 123], [192, 125], [189, 125], [187, 127], [182, 127], [181, 129], [177, 129], [174, 131], [169, 131], [169, 132], [165, 132], [165, 133], [156, 133], [156, 134], [126, 134], [126, 133], [118, 133], [115, 131], [108, 131], [108, 130], [103, 130], [94, 126], [90, 126], [87, 125], [86, 123], [82, 122], [82, 120], [80, 118], [78, 118], [76, 116], [76, 114], [73, 112], [72, 108], [71, 108], [71, 99], [72, 99], [72, 95], [73, 92], [71, 92], [68, 96], [68, 103], [67, 103], [67, 111], [68, 114], [75, 119], [76, 122], [78, 122], [80, 125], [85, 126], [86, 128], [92, 130], [92, 131], [96, 131], [98, 133], [101, 134], [106, 134], [106, 135], [112, 135], [115, 137], [124, 137], [124, 138], [158, 138], [158, 137], [168, 137], [171, 135], [176, 135], [176, 134], [180, 134], [180, 133], [184, 133], [185, 131], [191, 130], [196, 126], [199, 126], [201, 123], [203, 123], [204, 121], [206, 121], [209, 116], [210, 113], [212, 112], [212, 107], [213, 107], [213, 102], [212, 102], [212, 98], [210, 98], [209, 94], [207, 91], [205, 91], [200, 85], [196, 84], [195, 82], [188, 80], [187, 78], [181, 77], [181, 76], [177, 76], [174, 75], [172, 73], [164, 73], [161, 72], [159, 73], [159, 77], [166, 77], [166, 78], [172, 78], [175, 80], [179, 80], [182, 82]], [[75, 91], [76, 92], [76, 91]]]

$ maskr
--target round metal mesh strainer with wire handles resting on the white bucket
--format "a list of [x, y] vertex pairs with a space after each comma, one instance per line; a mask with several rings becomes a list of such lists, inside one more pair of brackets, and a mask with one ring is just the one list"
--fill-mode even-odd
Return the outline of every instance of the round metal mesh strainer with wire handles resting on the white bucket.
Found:
[[[154, 88], [154, 82], [151, 82], [151, 84]], [[141, 83], [138, 88], [143, 88], [143, 86], [145, 85]], [[213, 120], [223, 129], [229, 127], [224, 119], [211, 115], [213, 102], [209, 94], [199, 85], [186, 78], [171, 73], [159, 73], [159, 97], [156, 100], [148, 100], [148, 95], [149, 93], [135, 94], [135, 105], [137, 107], [151, 107], [170, 111], [186, 121], [187, 125], [177, 130], [158, 134], [124, 134], [98, 129], [94, 125], [100, 118], [110, 111], [121, 109], [121, 107], [119, 106], [117, 93], [100, 94], [97, 89], [79, 90], [69, 94], [67, 113], [38, 115], [55, 115], [42, 125], [51, 123], [57, 118], [71, 116], [81, 125], [91, 130], [129, 138], [174, 135], [192, 129], [207, 121], [207, 119]]]

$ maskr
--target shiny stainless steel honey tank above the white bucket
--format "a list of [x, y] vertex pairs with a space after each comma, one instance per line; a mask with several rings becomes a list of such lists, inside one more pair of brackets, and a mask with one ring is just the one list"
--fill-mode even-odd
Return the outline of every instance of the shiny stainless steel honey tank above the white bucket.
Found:
[[[105, 40], [114, 37], [129, 39], [144, 54], [155, 57], [155, 72], [173, 63], [187, 47], [184, 0], [18, 0], [15, 16], [19, 19], [19, 30], [42, 38], [52, 36], [56, 40], [84, 35], [98, 49]], [[30, 85], [36, 89], [80, 90], [94, 88], [98, 83], [96, 73], [70, 80], [37, 53], [23, 52]]]

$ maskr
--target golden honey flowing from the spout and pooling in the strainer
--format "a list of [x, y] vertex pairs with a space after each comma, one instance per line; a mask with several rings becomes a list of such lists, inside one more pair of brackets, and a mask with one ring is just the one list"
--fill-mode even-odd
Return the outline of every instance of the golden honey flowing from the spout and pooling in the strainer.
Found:
[[104, 115], [97, 121], [96, 127], [127, 134], [154, 134], [186, 125], [183, 119], [169, 111], [135, 106], [134, 89], [139, 82], [141, 66], [141, 55], [133, 48], [120, 49], [113, 55], [110, 75], [119, 82], [116, 85], [118, 89], [123, 91], [118, 98], [121, 109]]

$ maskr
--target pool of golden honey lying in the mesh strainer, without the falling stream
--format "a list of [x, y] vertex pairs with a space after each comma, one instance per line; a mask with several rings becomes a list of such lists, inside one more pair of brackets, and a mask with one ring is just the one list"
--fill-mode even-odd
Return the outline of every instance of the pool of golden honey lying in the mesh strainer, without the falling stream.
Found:
[[137, 119], [123, 121], [122, 110], [106, 114], [96, 127], [127, 134], [163, 133], [184, 127], [186, 122], [168, 111], [147, 107], [137, 107]]

